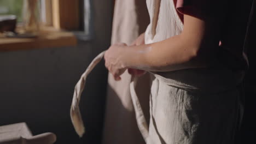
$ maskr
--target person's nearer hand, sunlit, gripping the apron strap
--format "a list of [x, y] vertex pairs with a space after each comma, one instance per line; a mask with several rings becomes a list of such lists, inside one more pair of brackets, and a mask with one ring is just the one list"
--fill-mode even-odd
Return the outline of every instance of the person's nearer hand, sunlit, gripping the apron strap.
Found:
[[124, 43], [114, 44], [109, 47], [104, 55], [105, 66], [116, 81], [121, 80], [120, 75], [127, 69], [127, 60], [129, 60], [126, 52], [127, 47]]

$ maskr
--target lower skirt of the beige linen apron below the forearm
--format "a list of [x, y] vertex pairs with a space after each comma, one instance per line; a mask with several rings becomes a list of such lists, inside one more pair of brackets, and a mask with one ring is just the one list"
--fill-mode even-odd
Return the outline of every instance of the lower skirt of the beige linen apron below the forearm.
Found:
[[233, 143], [240, 94], [226, 69], [154, 74], [147, 143]]

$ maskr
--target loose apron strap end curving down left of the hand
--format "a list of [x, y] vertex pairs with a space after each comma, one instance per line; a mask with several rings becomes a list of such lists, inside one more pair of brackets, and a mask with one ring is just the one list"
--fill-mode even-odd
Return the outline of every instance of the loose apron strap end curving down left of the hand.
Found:
[[85, 70], [83, 75], [81, 76], [80, 80], [77, 82], [77, 85], [75, 85], [74, 88], [74, 95], [72, 99], [72, 105], [70, 109], [70, 116], [71, 121], [73, 123], [74, 129], [77, 132], [77, 134], [82, 137], [85, 131], [83, 119], [79, 110], [79, 101], [81, 94], [84, 90], [86, 77], [91, 72], [92, 69], [101, 61], [101, 59], [104, 56], [105, 51], [101, 52], [97, 57], [94, 58], [94, 60], [90, 63], [88, 68]]

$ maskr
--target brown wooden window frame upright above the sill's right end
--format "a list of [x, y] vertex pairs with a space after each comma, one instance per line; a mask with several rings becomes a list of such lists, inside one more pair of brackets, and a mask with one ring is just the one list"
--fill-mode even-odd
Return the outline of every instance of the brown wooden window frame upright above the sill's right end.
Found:
[[94, 37], [92, 0], [41, 1], [45, 5], [42, 17], [51, 17], [44, 20], [46, 26], [72, 31], [79, 40], [91, 40]]

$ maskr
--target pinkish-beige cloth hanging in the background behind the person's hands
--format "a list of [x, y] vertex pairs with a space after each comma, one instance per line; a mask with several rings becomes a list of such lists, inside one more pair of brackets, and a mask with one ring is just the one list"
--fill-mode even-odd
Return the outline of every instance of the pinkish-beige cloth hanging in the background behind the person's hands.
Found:
[[[112, 27], [112, 44], [130, 45], [139, 34], [145, 32], [149, 23], [146, 0], [116, 0]], [[135, 111], [130, 95], [131, 75], [127, 70], [121, 81], [108, 75], [106, 112], [104, 119], [104, 144], [145, 143], [136, 123]], [[149, 121], [149, 74], [139, 77], [138, 94], [142, 109]]]

